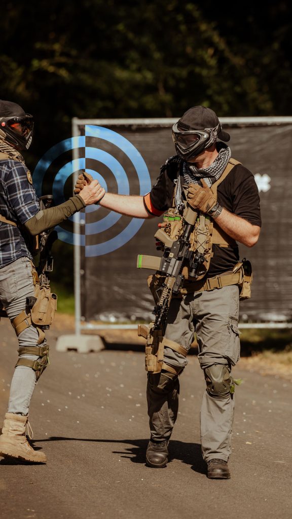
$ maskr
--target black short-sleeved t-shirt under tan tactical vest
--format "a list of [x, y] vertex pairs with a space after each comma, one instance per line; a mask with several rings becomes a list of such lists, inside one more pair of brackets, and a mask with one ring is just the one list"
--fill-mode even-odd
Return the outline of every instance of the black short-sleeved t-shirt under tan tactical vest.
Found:
[[[156, 216], [172, 207], [175, 179], [178, 175], [177, 164], [170, 163], [157, 179], [151, 192], [144, 198], [147, 210]], [[238, 164], [219, 184], [217, 200], [229, 212], [244, 218], [252, 225], [261, 226], [260, 198], [254, 175], [244, 166]], [[207, 277], [218, 276], [222, 272], [232, 270], [239, 260], [238, 247], [219, 247], [213, 245], [213, 257]]]

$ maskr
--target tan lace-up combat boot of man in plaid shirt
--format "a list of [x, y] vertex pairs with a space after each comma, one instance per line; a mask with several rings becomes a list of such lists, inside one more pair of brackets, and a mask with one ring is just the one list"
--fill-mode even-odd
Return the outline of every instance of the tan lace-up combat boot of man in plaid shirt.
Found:
[[0, 456], [18, 458], [21, 461], [45, 463], [44, 453], [34, 450], [26, 440], [25, 426], [28, 416], [6, 413], [2, 434], [0, 436]]

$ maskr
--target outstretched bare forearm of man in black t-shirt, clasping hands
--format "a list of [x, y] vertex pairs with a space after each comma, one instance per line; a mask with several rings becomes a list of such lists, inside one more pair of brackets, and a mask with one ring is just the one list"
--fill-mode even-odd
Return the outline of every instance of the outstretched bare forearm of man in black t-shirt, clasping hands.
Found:
[[100, 206], [111, 209], [116, 213], [135, 218], [151, 218], [151, 214], [145, 209], [142, 196], [115, 195], [105, 193], [100, 201]]

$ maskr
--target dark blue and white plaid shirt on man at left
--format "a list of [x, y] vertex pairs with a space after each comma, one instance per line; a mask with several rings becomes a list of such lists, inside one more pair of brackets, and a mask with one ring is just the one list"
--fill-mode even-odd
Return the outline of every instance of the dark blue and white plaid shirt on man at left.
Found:
[[31, 260], [33, 239], [22, 227], [39, 211], [28, 168], [16, 160], [0, 160], [0, 214], [19, 227], [0, 222], [0, 268], [18, 258]]

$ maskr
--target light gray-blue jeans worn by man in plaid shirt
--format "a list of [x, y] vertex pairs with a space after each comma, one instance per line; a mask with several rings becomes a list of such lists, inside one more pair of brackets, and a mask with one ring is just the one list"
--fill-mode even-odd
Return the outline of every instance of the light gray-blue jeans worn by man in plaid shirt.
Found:
[[[28, 257], [21, 257], [0, 268], [0, 301], [12, 321], [25, 309], [25, 299], [34, 296], [32, 262]], [[37, 344], [38, 332], [32, 324], [18, 336], [19, 347], [45, 346]], [[37, 360], [37, 355], [22, 355], [22, 358]], [[16, 361], [17, 362], [17, 361]], [[11, 381], [8, 413], [26, 416], [36, 383], [35, 371], [31, 367], [17, 366]]]

